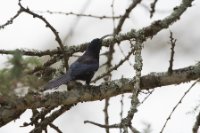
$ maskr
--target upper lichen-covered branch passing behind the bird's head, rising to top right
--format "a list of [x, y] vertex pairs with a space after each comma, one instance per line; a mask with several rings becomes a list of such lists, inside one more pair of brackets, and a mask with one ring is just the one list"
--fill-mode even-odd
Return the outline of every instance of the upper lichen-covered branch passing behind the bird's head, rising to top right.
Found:
[[[103, 40], [103, 46], [109, 47], [110, 45], [113, 45], [117, 42], [122, 42], [125, 40], [130, 40], [130, 39], [135, 39], [135, 38], [142, 38], [144, 39], [143, 42], [156, 35], [159, 31], [168, 28], [171, 24], [176, 22], [177, 20], [180, 19], [181, 15], [186, 11], [188, 7], [191, 6], [192, 2], [194, 0], [182, 0], [182, 3], [180, 6], [176, 7], [175, 10], [165, 19], [163, 20], [157, 20], [154, 21], [151, 25], [144, 27], [138, 31], [135, 30], [130, 30], [129, 32], [123, 33], [123, 34], [118, 34], [114, 38], [109, 38]], [[64, 47], [65, 52], [68, 56], [72, 55], [75, 52], [83, 52], [89, 42], [79, 44], [77, 46], [70, 46], [70, 47]], [[12, 51], [0, 51], [1, 54], [12, 54]], [[32, 53], [31, 51], [22, 51], [22, 54], [24, 55], [29, 55], [29, 56], [35, 56], [34, 52]], [[61, 54], [61, 50], [53, 50], [51, 51], [52, 54]], [[43, 55], [50, 55], [47, 51], [45, 52], [39, 52], [39, 56]]]

